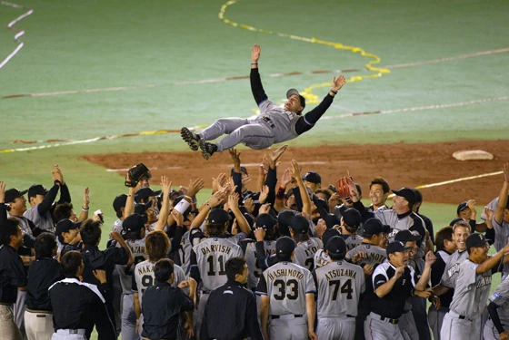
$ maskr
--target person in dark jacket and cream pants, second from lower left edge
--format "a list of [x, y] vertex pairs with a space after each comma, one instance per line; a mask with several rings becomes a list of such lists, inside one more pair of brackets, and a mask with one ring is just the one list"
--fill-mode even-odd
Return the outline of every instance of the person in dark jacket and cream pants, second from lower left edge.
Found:
[[51, 233], [42, 233], [35, 240], [35, 261], [28, 269], [26, 286], [25, 332], [28, 340], [49, 339], [54, 333], [53, 309], [48, 288], [64, 278], [57, 260], [56, 239]]

